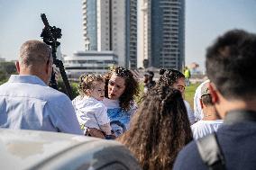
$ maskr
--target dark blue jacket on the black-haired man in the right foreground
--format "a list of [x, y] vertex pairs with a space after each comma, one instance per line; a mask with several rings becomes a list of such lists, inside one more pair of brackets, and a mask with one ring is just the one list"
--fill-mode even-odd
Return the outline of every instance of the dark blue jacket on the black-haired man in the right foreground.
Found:
[[[226, 116], [224, 126], [216, 132], [226, 169], [256, 169], [256, 121], [243, 119], [243, 114], [244, 111], [238, 112], [235, 118]], [[254, 114], [256, 116], [256, 112]], [[179, 152], [173, 169], [208, 169], [199, 156], [195, 141]]]

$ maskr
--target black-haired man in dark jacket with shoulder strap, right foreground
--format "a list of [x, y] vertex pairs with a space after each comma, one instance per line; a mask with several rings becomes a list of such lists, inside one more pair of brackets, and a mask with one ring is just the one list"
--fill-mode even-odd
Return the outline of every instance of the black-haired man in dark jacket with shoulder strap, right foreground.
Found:
[[203, 154], [201, 151], [207, 145], [201, 147], [199, 152], [198, 141], [197, 144], [192, 141], [178, 154], [175, 170], [215, 167], [227, 170], [255, 169], [255, 47], [256, 34], [232, 30], [218, 37], [207, 49], [206, 73], [211, 81], [209, 89], [216, 111], [224, 119], [224, 125], [217, 130], [214, 138], [209, 139], [211, 136], [206, 136], [199, 140], [207, 139], [207, 143], [216, 144], [215, 148], [208, 148], [209, 157], [199, 155]]

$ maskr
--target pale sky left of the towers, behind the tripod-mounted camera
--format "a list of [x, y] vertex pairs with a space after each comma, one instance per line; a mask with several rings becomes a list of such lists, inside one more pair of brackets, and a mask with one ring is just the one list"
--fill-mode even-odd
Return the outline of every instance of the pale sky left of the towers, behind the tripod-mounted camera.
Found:
[[0, 55], [15, 59], [26, 40], [41, 40], [41, 13], [61, 29], [61, 51], [83, 49], [82, 0], [0, 0]]

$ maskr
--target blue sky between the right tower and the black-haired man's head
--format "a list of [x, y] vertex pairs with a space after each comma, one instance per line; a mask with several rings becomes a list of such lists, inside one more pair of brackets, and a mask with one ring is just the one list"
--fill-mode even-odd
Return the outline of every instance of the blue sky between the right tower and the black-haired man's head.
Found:
[[256, 33], [256, 0], [187, 0], [186, 64], [204, 70], [206, 47], [230, 29]]

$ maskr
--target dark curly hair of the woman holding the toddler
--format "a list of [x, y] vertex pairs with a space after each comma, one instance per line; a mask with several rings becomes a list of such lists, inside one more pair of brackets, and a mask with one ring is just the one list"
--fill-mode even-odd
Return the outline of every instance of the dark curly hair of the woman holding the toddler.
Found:
[[119, 102], [120, 107], [124, 111], [129, 111], [135, 95], [139, 94], [139, 83], [129, 69], [124, 67], [112, 67], [110, 71], [105, 74], [105, 97], [108, 97], [108, 81], [114, 74], [116, 74], [116, 76], [121, 76], [124, 79], [125, 89], [119, 98]]

